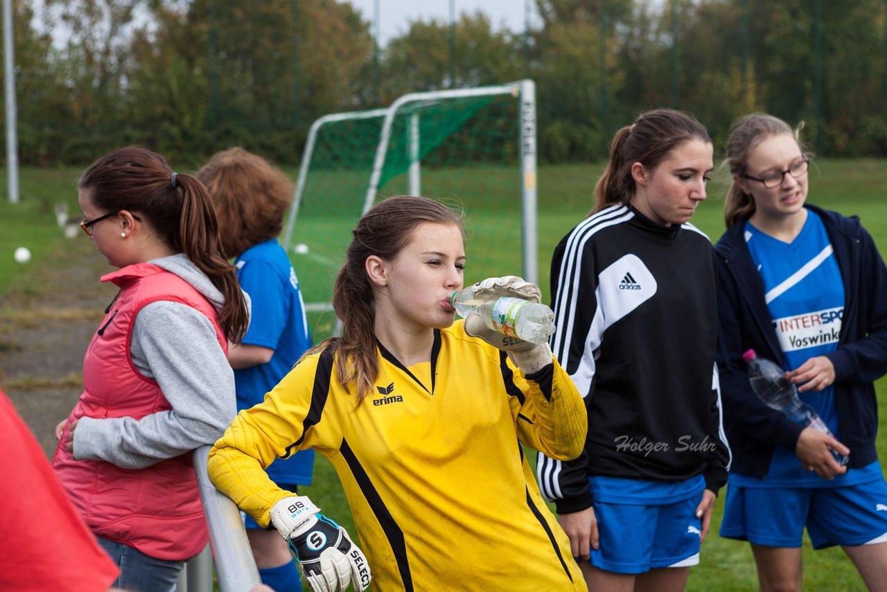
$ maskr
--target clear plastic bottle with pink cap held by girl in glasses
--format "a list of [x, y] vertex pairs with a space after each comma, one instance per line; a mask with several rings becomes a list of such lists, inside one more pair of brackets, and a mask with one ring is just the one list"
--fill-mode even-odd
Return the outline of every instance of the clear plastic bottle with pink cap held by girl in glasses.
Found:
[[[781, 411], [792, 421], [805, 422], [808, 428], [832, 435], [820, 414], [797, 397], [795, 383], [789, 380], [785, 370], [778, 364], [769, 359], [758, 358], [754, 350], [743, 353], [742, 359], [749, 365], [751, 390], [755, 391], [757, 398], [767, 407]], [[839, 465], [847, 464], [849, 459], [846, 455], [839, 454], [834, 449], [831, 453]]]

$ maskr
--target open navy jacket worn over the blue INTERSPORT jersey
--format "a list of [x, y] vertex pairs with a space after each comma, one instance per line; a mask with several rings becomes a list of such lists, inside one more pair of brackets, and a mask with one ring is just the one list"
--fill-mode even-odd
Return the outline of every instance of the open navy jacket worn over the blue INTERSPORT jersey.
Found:
[[[877, 459], [877, 402], [873, 382], [887, 373], [887, 268], [875, 241], [858, 217], [807, 204], [816, 212], [835, 249], [844, 280], [844, 317], [836, 351], [835, 405], [841, 442], [850, 448], [850, 467]], [[715, 245], [718, 260], [718, 372], [724, 424], [733, 451], [731, 471], [765, 478], [776, 445], [795, 450], [804, 426], [766, 407], [751, 391], [742, 352], [785, 366], [770, 312], [764, 281], [757, 273], [742, 236], [733, 225]]]

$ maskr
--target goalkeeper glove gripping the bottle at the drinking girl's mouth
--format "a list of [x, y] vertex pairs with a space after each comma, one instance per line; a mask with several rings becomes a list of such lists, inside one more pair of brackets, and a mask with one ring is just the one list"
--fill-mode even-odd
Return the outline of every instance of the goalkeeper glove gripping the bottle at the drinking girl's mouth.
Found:
[[[487, 278], [478, 281], [474, 286], [465, 288], [479, 300], [490, 300], [493, 297], [514, 296], [530, 302], [541, 302], [542, 292], [536, 284], [523, 280], [516, 275], [501, 278]], [[486, 326], [481, 315], [472, 312], [465, 320], [465, 332], [480, 337], [499, 350], [506, 351], [514, 365], [521, 368], [524, 374], [538, 372], [552, 363], [552, 350], [548, 343], [530, 343], [510, 335], [503, 335]]]

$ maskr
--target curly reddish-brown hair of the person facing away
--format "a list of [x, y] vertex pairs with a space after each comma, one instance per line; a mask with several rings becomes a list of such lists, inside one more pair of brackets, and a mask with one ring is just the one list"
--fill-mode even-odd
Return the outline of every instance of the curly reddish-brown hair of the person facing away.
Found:
[[197, 171], [216, 206], [224, 256], [237, 257], [283, 229], [295, 186], [286, 173], [243, 148], [216, 153]]

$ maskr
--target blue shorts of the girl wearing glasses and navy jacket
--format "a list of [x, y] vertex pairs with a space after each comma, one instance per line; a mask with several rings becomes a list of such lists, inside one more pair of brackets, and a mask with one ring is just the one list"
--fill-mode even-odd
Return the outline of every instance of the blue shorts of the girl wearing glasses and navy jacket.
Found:
[[764, 489], [728, 485], [720, 535], [768, 547], [813, 549], [887, 542], [887, 483]]

